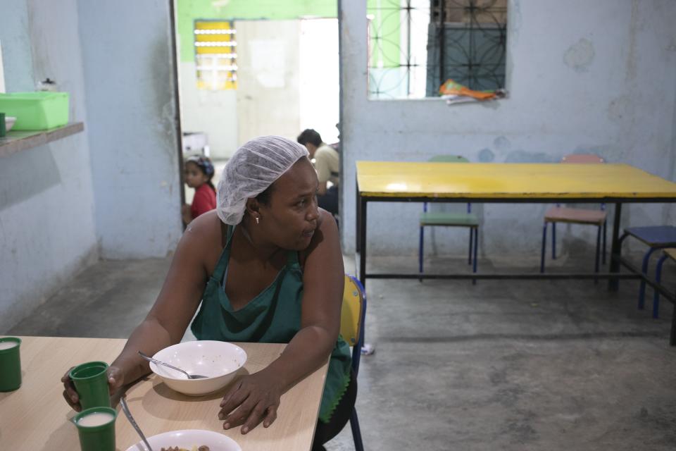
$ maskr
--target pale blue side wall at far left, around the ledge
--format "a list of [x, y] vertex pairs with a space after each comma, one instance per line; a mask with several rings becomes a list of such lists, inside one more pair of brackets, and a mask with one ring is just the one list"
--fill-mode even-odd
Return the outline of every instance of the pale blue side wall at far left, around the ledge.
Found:
[[[87, 124], [76, 0], [4, 2], [8, 92], [49, 77]], [[87, 130], [87, 125], [85, 125]], [[87, 135], [0, 157], [0, 333], [98, 257]]]

